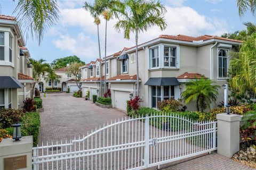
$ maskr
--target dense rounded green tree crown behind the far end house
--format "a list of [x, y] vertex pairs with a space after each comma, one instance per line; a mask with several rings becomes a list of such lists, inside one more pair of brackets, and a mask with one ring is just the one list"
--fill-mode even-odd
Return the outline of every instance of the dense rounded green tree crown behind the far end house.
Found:
[[71, 63], [81, 63], [81, 64], [85, 64], [83, 61], [80, 60], [79, 57], [77, 57], [76, 55], [73, 56], [67, 56], [67, 57], [63, 57], [63, 58], [58, 58], [52, 61], [51, 66], [53, 69], [59, 69], [62, 67], [66, 67], [67, 64], [71, 64]]

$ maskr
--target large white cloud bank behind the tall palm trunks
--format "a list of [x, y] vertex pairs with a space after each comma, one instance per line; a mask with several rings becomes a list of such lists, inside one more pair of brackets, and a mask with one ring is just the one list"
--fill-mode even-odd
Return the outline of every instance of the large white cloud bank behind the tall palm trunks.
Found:
[[[167, 13], [165, 19], [167, 28], [161, 31], [158, 27], [152, 27], [147, 32], [142, 32], [139, 35], [139, 43], [157, 38], [161, 34], [167, 35], [189, 35], [199, 36], [204, 34], [221, 35], [227, 32], [228, 25], [225, 21], [218, 18], [207, 18], [199, 14], [191, 7], [169, 7], [166, 6]], [[131, 34], [131, 39], [123, 38], [123, 32], [118, 33], [114, 29], [116, 19], [108, 22], [107, 35], [107, 55], [113, 54], [122, 50], [123, 47], [134, 46], [134, 34]], [[77, 36], [70, 36], [70, 33], [62, 33], [59, 38], [53, 41], [54, 45], [61, 50], [69, 50], [70, 52], [87, 58], [86, 61], [94, 60], [98, 56], [98, 39], [97, 27], [93, 23], [93, 18], [89, 12], [82, 8], [66, 8], [61, 10], [60, 25], [63, 30], [67, 29], [74, 34], [73, 29], [79, 30]], [[101, 55], [104, 56], [105, 43], [105, 21], [101, 20], [100, 24], [100, 43]]]

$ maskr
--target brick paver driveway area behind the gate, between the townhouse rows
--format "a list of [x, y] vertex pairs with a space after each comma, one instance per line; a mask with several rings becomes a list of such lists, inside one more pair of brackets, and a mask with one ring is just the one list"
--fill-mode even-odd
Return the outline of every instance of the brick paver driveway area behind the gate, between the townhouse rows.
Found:
[[44, 112], [41, 115], [39, 144], [52, 140], [74, 140], [78, 135], [125, 116], [125, 112], [114, 108], [100, 108], [92, 101], [76, 98], [62, 92], [42, 97]]

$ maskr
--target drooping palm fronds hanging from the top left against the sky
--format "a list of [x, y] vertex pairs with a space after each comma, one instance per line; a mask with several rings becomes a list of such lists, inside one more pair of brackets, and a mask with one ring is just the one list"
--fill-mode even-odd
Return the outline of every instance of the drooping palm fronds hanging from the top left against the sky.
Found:
[[57, 0], [17, 1], [18, 5], [13, 13], [17, 13], [17, 19], [27, 37], [30, 32], [31, 37], [36, 36], [40, 45], [45, 31], [58, 22]]

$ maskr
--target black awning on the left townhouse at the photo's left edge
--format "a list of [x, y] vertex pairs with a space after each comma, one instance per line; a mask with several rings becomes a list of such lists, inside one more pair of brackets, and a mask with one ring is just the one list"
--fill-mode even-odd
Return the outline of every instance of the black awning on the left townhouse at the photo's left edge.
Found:
[[20, 89], [23, 85], [14, 77], [0, 76], [0, 89]]

